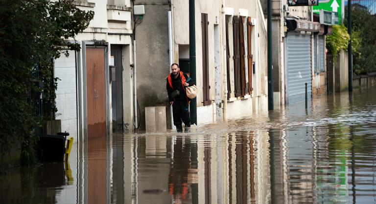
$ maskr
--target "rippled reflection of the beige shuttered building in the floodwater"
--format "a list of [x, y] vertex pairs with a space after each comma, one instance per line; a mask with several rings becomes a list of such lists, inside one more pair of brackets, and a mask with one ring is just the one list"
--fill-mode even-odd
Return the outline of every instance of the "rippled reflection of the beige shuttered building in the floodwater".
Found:
[[[200, 136], [198, 203], [268, 203], [268, 146], [266, 132], [239, 131], [228, 135]], [[276, 174], [283, 180], [282, 165], [277, 166], [280, 170]], [[279, 184], [279, 195], [286, 196], [285, 189], [285, 183]]]

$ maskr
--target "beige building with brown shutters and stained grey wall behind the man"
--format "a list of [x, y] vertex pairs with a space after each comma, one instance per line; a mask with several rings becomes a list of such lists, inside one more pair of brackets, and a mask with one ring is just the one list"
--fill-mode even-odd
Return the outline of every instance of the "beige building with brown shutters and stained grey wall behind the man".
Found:
[[[135, 1], [145, 9], [136, 27], [141, 128], [144, 107], [157, 105], [167, 106], [170, 127], [165, 78], [169, 54], [183, 72], [189, 72], [188, 0], [142, 2]], [[266, 21], [259, 0], [196, 0], [195, 33], [197, 124], [266, 111]]]

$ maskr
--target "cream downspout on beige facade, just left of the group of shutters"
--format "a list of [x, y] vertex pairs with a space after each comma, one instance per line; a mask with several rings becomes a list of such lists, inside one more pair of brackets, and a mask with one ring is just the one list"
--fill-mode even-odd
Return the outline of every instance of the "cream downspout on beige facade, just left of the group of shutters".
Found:
[[[225, 11], [223, 10], [224, 7], [225, 7], [225, 0], [222, 0], [222, 26], [225, 30], [226, 29], [226, 14], [225, 14]], [[225, 31], [226, 32], [226, 31]], [[223, 34], [223, 32], [222, 32]], [[224, 95], [223, 95], [223, 121], [227, 121], [227, 117], [226, 117], [226, 111], [227, 111], [227, 94], [228, 94], [228, 90], [227, 90], [227, 52], [226, 52], [226, 49], [228, 49], [227, 45], [226, 45], [226, 34], [225, 35], [222, 35], [222, 44], [224, 45], [224, 48], [222, 50], [222, 59], [223, 59], [223, 66], [222, 66], [222, 70], [223, 70], [223, 87], [224, 87]], [[225, 68], [226, 67], [226, 68]]]

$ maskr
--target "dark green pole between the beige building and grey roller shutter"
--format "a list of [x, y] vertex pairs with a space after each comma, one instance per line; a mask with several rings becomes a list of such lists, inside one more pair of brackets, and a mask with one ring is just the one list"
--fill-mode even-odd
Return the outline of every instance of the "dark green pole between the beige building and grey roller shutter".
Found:
[[272, 64], [272, 0], [268, 0], [268, 109], [274, 109]]

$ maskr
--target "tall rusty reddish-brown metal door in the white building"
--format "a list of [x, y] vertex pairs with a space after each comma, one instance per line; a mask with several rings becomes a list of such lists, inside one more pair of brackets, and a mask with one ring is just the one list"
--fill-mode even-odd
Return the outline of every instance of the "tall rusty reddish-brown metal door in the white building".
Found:
[[88, 139], [106, 136], [105, 48], [86, 48]]

